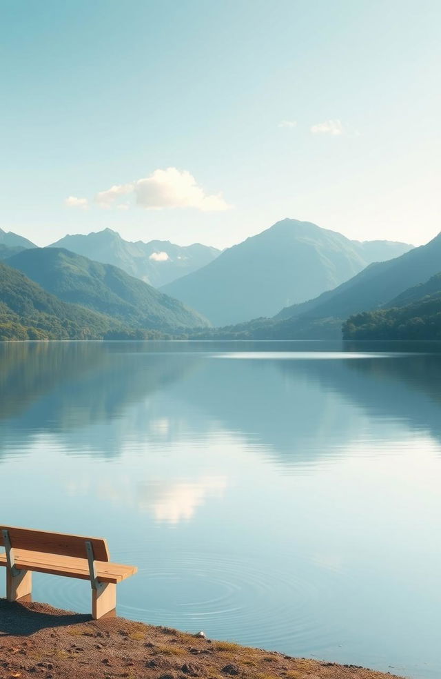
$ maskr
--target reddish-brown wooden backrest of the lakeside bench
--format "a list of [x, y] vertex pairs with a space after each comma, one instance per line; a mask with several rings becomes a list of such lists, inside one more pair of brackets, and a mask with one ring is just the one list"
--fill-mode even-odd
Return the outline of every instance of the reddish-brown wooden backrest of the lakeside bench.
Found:
[[45, 554], [58, 554], [60, 556], [74, 556], [79, 559], [87, 559], [85, 543], [89, 541], [92, 543], [96, 561], [110, 560], [107, 540], [104, 540], [104, 538], [87, 538], [83, 535], [47, 533], [45, 531], [32, 531], [28, 528], [0, 525], [0, 546], [2, 547], [4, 547], [2, 533], [4, 529], [8, 531], [11, 547], [14, 549], [29, 549], [30, 551], [39, 551]]

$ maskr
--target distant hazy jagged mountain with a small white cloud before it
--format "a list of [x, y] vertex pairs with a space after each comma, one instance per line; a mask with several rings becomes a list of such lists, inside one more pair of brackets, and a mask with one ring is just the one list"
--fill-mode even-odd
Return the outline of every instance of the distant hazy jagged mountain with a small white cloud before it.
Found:
[[110, 228], [88, 235], [67, 235], [51, 247], [113, 264], [156, 288], [209, 264], [220, 254], [220, 250], [199, 243], [184, 247], [159, 240], [129, 242]]

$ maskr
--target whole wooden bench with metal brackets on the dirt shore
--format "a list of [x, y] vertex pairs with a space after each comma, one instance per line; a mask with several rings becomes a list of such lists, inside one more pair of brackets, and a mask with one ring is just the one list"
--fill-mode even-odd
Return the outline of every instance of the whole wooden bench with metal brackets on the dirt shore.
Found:
[[103, 538], [45, 533], [0, 525], [0, 566], [6, 566], [8, 601], [31, 600], [32, 571], [90, 580], [94, 620], [116, 614], [116, 585], [138, 570], [110, 563]]

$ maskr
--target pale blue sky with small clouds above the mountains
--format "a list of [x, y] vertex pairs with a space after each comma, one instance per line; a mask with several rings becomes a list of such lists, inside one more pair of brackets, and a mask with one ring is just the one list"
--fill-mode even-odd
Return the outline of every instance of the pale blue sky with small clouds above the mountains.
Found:
[[5, 230], [221, 247], [283, 217], [415, 244], [441, 230], [439, 0], [0, 13]]

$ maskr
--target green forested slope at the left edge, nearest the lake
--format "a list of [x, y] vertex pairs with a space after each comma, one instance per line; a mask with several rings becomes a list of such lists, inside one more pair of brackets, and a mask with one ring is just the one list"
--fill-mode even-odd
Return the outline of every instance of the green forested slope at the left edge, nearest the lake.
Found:
[[112, 318], [61, 302], [0, 263], [0, 339], [102, 339], [120, 330]]

